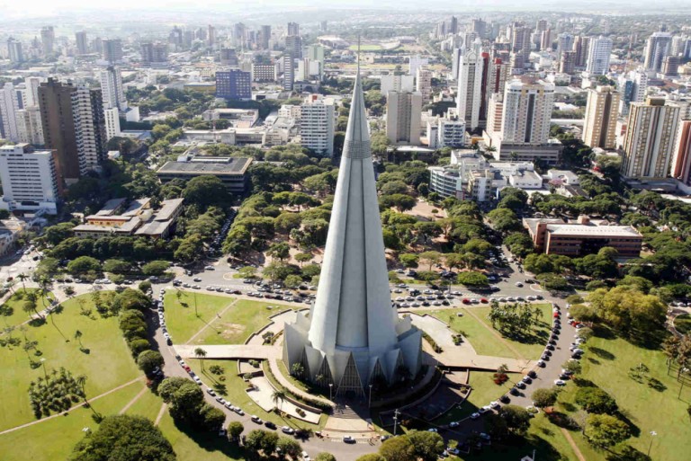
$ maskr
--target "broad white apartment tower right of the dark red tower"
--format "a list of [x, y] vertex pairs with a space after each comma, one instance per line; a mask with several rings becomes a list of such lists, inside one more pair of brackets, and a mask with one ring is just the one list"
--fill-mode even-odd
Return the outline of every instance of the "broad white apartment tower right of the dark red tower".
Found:
[[514, 80], [504, 93], [502, 141], [512, 144], [544, 144], [550, 137], [554, 85]]

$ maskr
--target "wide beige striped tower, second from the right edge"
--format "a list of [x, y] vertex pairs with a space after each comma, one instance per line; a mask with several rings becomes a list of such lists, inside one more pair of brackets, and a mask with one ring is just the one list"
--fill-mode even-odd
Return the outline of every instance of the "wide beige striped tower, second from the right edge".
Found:
[[679, 111], [677, 105], [666, 104], [662, 98], [631, 103], [622, 147], [624, 177], [645, 180], [669, 176]]

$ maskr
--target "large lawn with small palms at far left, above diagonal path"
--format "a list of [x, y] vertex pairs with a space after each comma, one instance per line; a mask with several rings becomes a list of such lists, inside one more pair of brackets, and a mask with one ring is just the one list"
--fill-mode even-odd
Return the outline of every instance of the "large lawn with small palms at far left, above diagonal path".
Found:
[[[74, 376], [86, 375], [87, 397], [103, 394], [139, 376], [117, 318], [101, 318], [95, 310], [92, 318], [80, 315], [79, 298], [84, 299], [85, 307], [92, 306], [90, 295], [69, 299], [62, 304], [62, 312], [49, 315], [47, 323], [27, 324], [13, 332], [22, 344], [25, 338], [38, 341], [40, 356], [34, 351], [25, 352], [22, 346], [0, 348], [0, 369], [4, 372], [0, 379], [0, 430], [34, 420], [27, 391], [31, 380], [43, 376], [43, 368], [31, 369], [30, 359], [45, 359], [48, 372], [65, 367]], [[75, 340], [77, 330], [82, 332], [85, 351]]]

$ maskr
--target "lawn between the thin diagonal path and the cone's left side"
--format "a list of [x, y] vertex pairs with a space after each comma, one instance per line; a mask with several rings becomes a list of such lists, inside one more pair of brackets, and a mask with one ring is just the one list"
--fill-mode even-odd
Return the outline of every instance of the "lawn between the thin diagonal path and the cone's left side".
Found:
[[[268, 306], [273, 308], [268, 309]], [[269, 323], [269, 315], [278, 314], [286, 309], [304, 307], [305, 305], [285, 306], [269, 301], [240, 299], [202, 332], [193, 344], [242, 344], [253, 332]]]

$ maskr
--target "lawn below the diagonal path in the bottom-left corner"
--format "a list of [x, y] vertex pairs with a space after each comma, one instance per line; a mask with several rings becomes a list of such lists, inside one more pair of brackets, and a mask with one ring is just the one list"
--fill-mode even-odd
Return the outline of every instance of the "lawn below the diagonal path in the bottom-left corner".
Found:
[[[143, 386], [143, 382], [132, 383], [94, 401], [93, 408], [104, 416], [117, 414]], [[96, 430], [92, 414], [91, 410], [82, 407], [65, 416], [0, 435], [0, 458], [3, 461], [67, 459], [76, 442], [84, 437], [82, 429]]]

